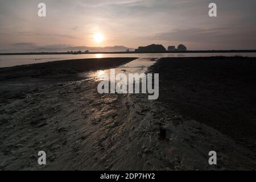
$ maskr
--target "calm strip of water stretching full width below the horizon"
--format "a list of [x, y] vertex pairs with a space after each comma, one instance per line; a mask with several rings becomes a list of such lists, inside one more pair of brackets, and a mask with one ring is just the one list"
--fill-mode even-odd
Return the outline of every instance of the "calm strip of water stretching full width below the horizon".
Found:
[[89, 59], [102, 57], [138, 57], [138, 58], [160, 58], [160, 57], [201, 57], [201, 56], [248, 56], [256, 57], [255, 52], [250, 53], [109, 53], [109, 54], [85, 54], [85, 55], [0, 55], [0, 68], [13, 67], [16, 65], [45, 63], [68, 59]]

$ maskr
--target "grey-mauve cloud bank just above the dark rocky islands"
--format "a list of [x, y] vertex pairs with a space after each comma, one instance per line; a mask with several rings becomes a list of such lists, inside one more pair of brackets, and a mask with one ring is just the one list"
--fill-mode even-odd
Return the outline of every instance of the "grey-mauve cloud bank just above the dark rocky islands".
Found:
[[161, 32], [144, 39], [169, 45], [183, 43], [190, 49], [254, 49], [256, 37], [253, 35], [256, 35], [254, 28], [188, 28]]

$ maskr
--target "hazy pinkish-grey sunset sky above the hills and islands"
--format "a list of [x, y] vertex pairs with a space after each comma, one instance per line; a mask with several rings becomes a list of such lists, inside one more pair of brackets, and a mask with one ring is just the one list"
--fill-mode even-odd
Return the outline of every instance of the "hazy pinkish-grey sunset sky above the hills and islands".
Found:
[[[46, 17], [38, 16], [41, 2]], [[217, 17], [208, 15], [211, 2]], [[256, 49], [255, 8], [255, 0], [0, 0], [0, 50], [152, 43]]]

